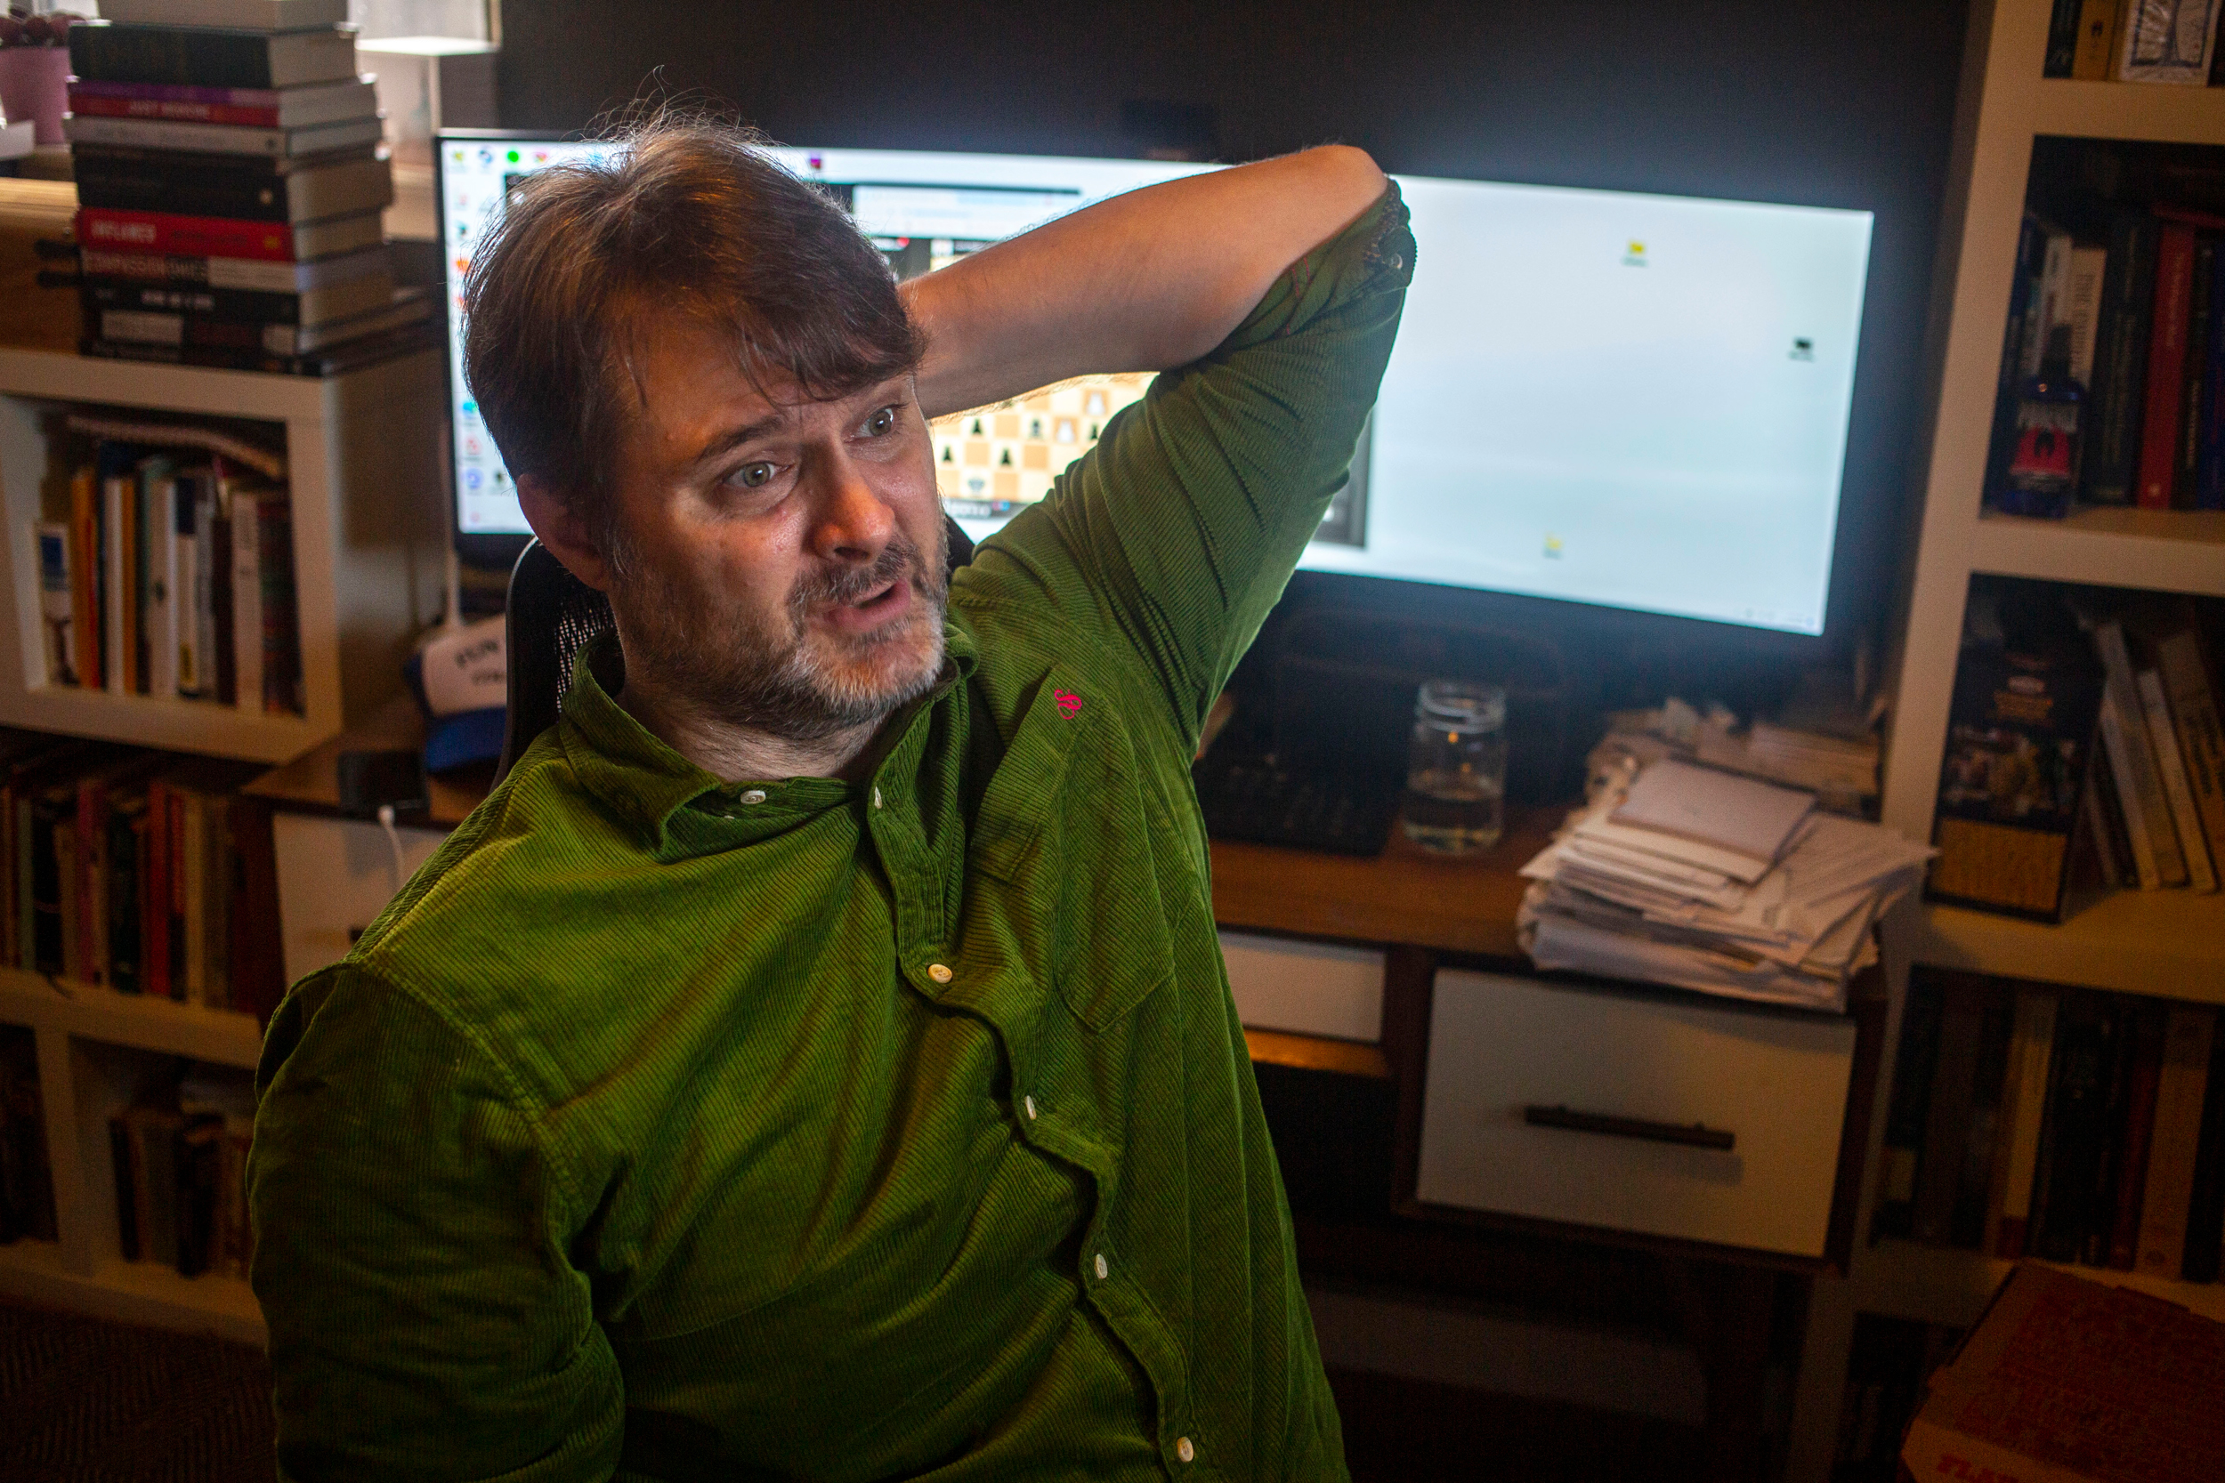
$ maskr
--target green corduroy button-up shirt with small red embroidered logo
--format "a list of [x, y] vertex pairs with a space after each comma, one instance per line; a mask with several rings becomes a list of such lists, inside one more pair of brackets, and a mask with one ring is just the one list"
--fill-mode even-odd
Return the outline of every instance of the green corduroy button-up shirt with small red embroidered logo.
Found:
[[1342, 1479], [1188, 758], [1344, 482], [1397, 191], [950, 587], [863, 783], [585, 663], [256, 1074], [289, 1479]]

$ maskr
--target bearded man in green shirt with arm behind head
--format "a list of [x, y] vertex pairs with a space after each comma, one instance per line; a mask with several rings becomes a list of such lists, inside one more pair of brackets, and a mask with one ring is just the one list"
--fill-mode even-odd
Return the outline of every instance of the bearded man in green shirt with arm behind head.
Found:
[[[523, 187], [467, 374], [619, 643], [271, 1023], [287, 1476], [1344, 1474], [1188, 758], [1404, 220], [1319, 149], [899, 296], [730, 131]], [[1144, 369], [946, 580], [926, 418]]]

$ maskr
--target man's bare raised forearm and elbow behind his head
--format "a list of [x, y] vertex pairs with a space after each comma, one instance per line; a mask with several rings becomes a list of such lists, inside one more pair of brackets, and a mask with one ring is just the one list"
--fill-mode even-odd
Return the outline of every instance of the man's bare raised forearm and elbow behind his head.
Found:
[[1128, 191], [914, 278], [919, 407], [939, 418], [1072, 376], [1188, 365], [1382, 191], [1364, 151], [1328, 145]]

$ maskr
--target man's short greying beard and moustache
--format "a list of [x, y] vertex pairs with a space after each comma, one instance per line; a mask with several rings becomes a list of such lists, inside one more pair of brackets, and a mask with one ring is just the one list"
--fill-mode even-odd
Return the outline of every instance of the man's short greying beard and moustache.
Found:
[[[941, 527], [926, 558], [897, 531], [870, 567], [810, 571], [781, 614], [759, 623], [741, 607], [705, 600], [656, 580], [641, 563], [612, 589], [634, 678], [681, 707], [725, 725], [792, 743], [819, 743], [883, 720], [934, 687], [943, 667], [943, 605], [950, 596]], [[636, 580], [625, 580], [632, 576]], [[910, 583], [914, 607], [892, 629], [825, 634], [810, 643], [814, 611], [857, 603], [890, 583]], [[832, 647], [832, 654], [819, 651]], [[874, 660], [901, 656], [894, 669]]]

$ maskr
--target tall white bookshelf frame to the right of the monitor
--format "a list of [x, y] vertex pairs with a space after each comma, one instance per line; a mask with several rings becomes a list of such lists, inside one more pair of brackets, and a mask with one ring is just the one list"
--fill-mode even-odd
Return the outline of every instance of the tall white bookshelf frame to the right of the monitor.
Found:
[[[2049, 11], [2049, 0], [1974, 0], [1969, 16], [1940, 218], [1936, 382], [1920, 462], [1920, 527], [1885, 758], [1885, 823], [1909, 838], [1931, 836], [1974, 574], [2225, 596], [2221, 514], [2080, 509], [2069, 520], [2023, 520], [1980, 507], [2034, 140], [2225, 147], [2225, 89], [2043, 78]], [[1896, 912], [1887, 923], [1891, 1012], [1862, 1178], [1858, 1232], [1865, 1234], [1911, 965], [2225, 1005], [2225, 896], [2116, 892], [2089, 900], [2058, 927], [1925, 903]], [[1858, 1312], [1967, 1325], [2007, 1270], [2009, 1263], [1978, 1252], [1858, 1238], [1851, 1272], [1816, 1283], [1784, 1476], [1822, 1483], [1831, 1474]], [[2225, 1318], [2225, 1285], [2065, 1270]]]

